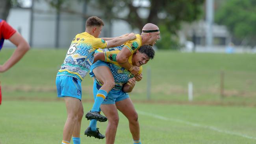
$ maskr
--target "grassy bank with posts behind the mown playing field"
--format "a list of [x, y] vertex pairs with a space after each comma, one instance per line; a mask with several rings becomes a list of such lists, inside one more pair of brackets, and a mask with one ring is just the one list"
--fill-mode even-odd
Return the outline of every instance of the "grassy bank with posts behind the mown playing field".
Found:
[[[66, 49], [32, 49], [17, 65], [0, 75], [3, 94], [8, 98], [24, 96], [55, 98], [56, 73]], [[3, 49], [0, 63], [13, 50]], [[148, 68], [151, 69], [151, 100], [187, 101], [187, 84], [193, 82], [194, 101], [256, 103], [255, 54], [204, 54], [157, 51], [143, 66], [143, 79], [136, 84], [134, 100], [147, 100]], [[220, 96], [220, 73], [224, 72], [224, 94]], [[83, 82], [83, 99], [91, 100], [92, 79]]]

